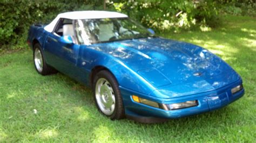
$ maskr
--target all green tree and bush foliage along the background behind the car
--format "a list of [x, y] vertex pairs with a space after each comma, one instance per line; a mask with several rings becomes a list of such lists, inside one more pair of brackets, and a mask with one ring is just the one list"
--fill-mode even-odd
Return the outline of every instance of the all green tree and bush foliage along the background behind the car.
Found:
[[[146, 27], [156, 31], [179, 31], [198, 25], [217, 26], [219, 5], [227, 13], [239, 13], [235, 7], [241, 0], [106, 0], [106, 10], [126, 13]], [[242, 1], [251, 5], [254, 0]], [[234, 5], [232, 7], [232, 5]], [[34, 23], [49, 23], [60, 12], [75, 10], [103, 10], [103, 0], [2, 0], [0, 1], [0, 47], [24, 43], [28, 28]], [[238, 9], [235, 9], [238, 8]], [[237, 11], [235, 11], [237, 10]], [[231, 12], [230, 12], [231, 11]], [[242, 12], [240, 12], [242, 13]], [[16, 46], [17, 47], [17, 46]]]

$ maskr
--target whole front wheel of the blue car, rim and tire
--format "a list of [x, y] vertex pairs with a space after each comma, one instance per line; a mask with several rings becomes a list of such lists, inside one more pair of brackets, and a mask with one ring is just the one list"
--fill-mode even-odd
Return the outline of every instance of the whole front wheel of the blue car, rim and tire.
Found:
[[116, 78], [107, 70], [99, 71], [93, 87], [98, 110], [112, 120], [124, 118], [123, 99]]

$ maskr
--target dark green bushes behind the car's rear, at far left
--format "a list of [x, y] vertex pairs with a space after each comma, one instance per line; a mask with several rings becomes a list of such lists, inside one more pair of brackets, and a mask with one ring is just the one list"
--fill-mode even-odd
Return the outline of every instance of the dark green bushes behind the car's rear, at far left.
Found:
[[[60, 12], [102, 9], [102, 1], [0, 1], [0, 47], [22, 48], [33, 23], [49, 23]], [[6, 46], [8, 45], [8, 46]]]

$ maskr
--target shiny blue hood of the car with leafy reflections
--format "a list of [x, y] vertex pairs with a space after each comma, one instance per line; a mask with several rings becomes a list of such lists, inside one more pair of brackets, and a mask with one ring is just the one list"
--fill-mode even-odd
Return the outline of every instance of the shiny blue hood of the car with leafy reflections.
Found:
[[[169, 84], [176, 86], [210, 83], [214, 77], [221, 79], [223, 75], [226, 78], [228, 76], [226, 73], [229, 72], [232, 73], [232, 78], [225, 83], [228, 84], [239, 78], [239, 75], [218, 56], [186, 42], [145, 38], [93, 44], [93, 48], [118, 58], [156, 89]], [[214, 82], [211, 81], [212, 83]], [[212, 89], [211, 84], [207, 88]]]

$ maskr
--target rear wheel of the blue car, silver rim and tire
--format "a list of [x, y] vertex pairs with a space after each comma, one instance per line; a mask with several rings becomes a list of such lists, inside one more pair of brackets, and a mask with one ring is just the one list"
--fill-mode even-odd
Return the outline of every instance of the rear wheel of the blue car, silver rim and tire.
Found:
[[41, 75], [49, 75], [57, 73], [57, 70], [46, 64], [39, 43], [33, 46], [33, 61], [37, 72]]

